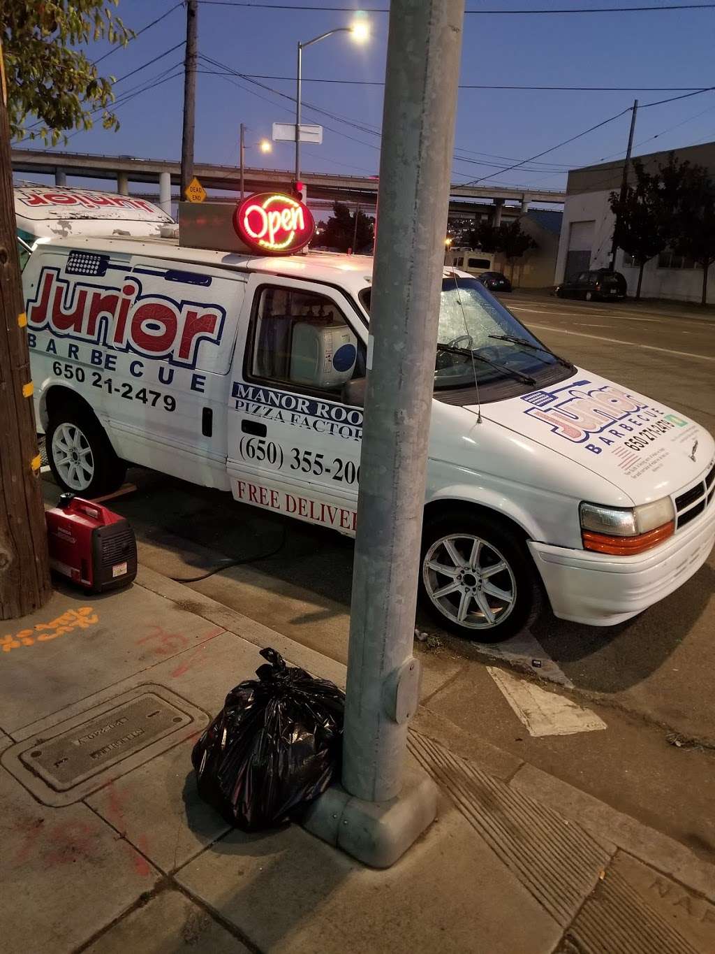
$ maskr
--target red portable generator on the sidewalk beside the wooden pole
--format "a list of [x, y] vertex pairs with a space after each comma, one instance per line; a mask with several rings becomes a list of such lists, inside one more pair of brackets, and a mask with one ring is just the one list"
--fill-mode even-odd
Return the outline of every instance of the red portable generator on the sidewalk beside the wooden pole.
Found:
[[95, 593], [133, 581], [136, 539], [124, 517], [72, 493], [63, 493], [45, 516], [52, 570]]

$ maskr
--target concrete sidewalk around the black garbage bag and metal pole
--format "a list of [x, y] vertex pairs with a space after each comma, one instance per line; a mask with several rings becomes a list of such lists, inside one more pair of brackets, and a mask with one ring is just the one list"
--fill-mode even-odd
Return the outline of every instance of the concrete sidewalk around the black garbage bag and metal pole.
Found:
[[142, 569], [0, 624], [0, 950], [715, 950], [715, 869], [424, 706], [439, 820], [387, 871], [301, 828], [231, 831], [191, 749], [258, 648], [344, 667]]

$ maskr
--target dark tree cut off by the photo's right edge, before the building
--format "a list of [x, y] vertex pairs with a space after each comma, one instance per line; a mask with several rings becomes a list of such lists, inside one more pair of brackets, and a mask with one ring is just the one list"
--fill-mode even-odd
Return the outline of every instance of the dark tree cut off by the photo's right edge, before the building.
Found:
[[715, 182], [704, 166], [685, 170], [677, 209], [677, 236], [671, 242], [678, 255], [703, 269], [701, 304], [707, 303], [707, 272], [715, 261]]

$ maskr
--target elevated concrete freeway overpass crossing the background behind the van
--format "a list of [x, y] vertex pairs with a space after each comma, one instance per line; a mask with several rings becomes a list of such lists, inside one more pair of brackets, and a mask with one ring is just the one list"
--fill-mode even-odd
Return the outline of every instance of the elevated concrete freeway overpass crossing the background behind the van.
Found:
[[[134, 156], [93, 156], [87, 153], [59, 153], [38, 149], [12, 150], [12, 169], [15, 173], [54, 176], [55, 185], [64, 185], [67, 176], [91, 179], [112, 179], [117, 191], [129, 195], [130, 182], [159, 184], [162, 204], [171, 200], [172, 185], [179, 184], [180, 164], [172, 159], [141, 159]], [[239, 188], [239, 172], [235, 166], [194, 162], [194, 175], [205, 189], [230, 190]], [[273, 169], [245, 169], [246, 192], [285, 187], [293, 176], [290, 172]], [[378, 179], [373, 176], [343, 176], [330, 173], [303, 173], [301, 176], [311, 198], [329, 201], [361, 201], [374, 203], [378, 195]], [[565, 193], [548, 189], [511, 188], [500, 185], [459, 185], [452, 183], [450, 196], [461, 199], [460, 208], [475, 201], [482, 204], [491, 199], [495, 206], [495, 220], [501, 220], [505, 201], [521, 204], [525, 212], [531, 202], [562, 203]], [[457, 203], [455, 203], [457, 204]], [[475, 210], [476, 211], [476, 210]]]

